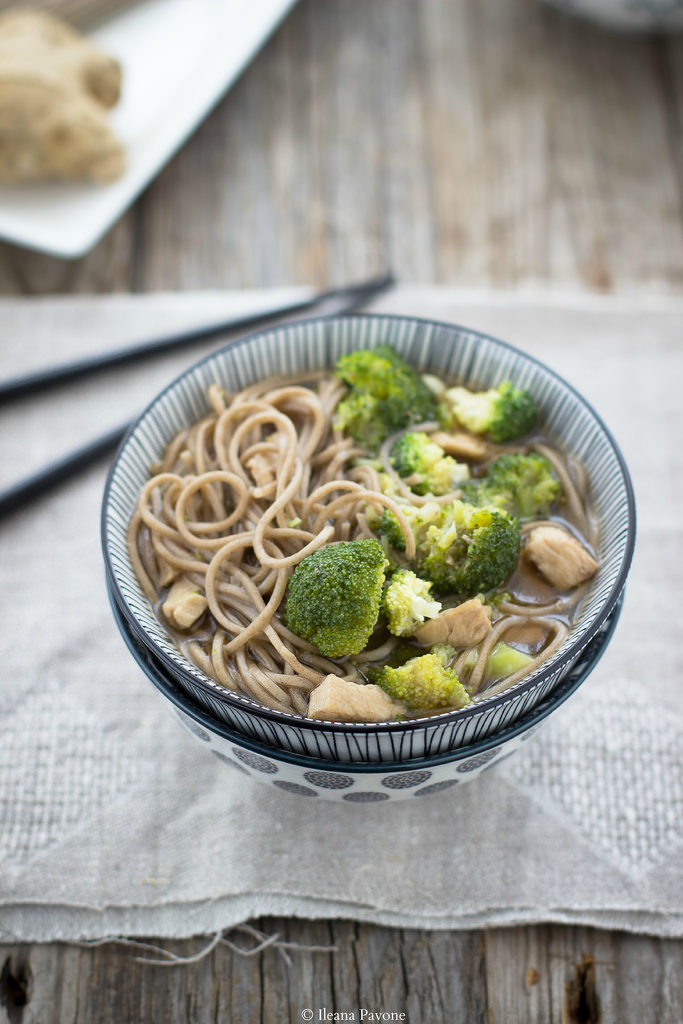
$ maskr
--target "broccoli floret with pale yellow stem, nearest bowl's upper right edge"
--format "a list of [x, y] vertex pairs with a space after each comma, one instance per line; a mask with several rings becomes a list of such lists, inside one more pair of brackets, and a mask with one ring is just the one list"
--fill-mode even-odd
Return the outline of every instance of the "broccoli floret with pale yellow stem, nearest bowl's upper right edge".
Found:
[[474, 434], [488, 434], [500, 443], [523, 436], [533, 427], [538, 408], [527, 391], [503, 381], [488, 391], [452, 387], [443, 400], [446, 413]]

